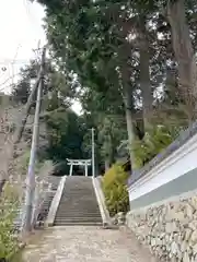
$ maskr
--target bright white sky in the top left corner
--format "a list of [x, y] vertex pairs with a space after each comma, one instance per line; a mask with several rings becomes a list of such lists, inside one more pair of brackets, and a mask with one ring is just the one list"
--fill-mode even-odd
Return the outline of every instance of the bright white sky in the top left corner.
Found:
[[[37, 48], [39, 40], [40, 45], [46, 41], [43, 17], [44, 9], [36, 2], [0, 1], [0, 88], [4, 86], [8, 91], [11, 81], [7, 80], [19, 73], [19, 69], [35, 56], [33, 49]], [[7, 71], [2, 71], [2, 68], [7, 68]]]

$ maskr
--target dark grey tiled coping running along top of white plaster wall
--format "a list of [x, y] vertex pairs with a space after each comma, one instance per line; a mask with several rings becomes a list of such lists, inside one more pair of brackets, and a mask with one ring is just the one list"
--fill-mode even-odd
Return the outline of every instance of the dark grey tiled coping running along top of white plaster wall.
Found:
[[[197, 134], [197, 121], [194, 122], [188, 129], [183, 130], [178, 138], [171, 143], [163, 152], [152, 158], [144, 167], [139, 170], [134, 170], [128, 179], [128, 187], [134, 184], [137, 180], [144, 177], [150, 170], [155, 168], [164, 159], [169, 158], [173, 153], [177, 152], [185, 145], [193, 136]], [[173, 154], [174, 155], [174, 154]]]

